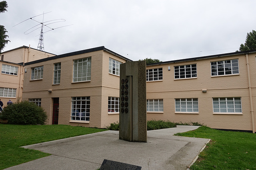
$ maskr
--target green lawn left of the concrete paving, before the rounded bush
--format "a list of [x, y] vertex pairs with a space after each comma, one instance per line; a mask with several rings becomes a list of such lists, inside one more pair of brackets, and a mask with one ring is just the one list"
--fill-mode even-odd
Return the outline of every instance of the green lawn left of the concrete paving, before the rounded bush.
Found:
[[26, 145], [105, 131], [69, 125], [0, 124], [0, 169], [49, 156], [38, 150], [20, 148]]

